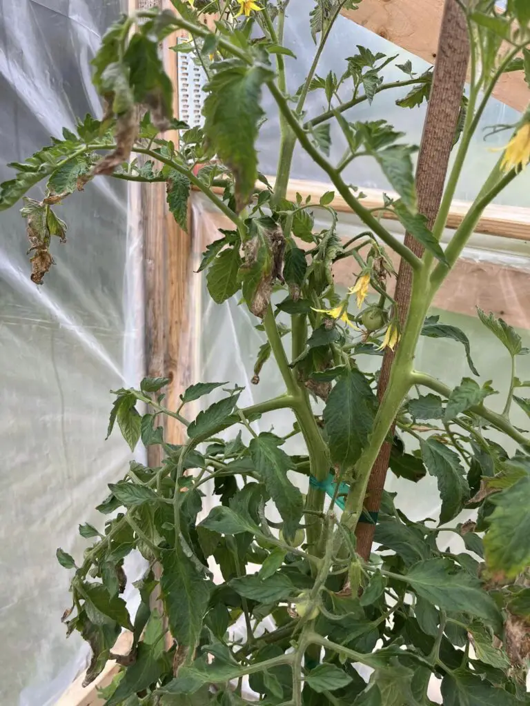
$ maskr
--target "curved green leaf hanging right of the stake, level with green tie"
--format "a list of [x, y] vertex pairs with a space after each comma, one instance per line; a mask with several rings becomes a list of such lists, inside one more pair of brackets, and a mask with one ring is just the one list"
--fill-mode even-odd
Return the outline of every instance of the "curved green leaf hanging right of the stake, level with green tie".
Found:
[[442, 499], [440, 524], [454, 519], [469, 500], [469, 486], [464, 477], [459, 455], [434, 438], [420, 442], [428, 472], [438, 481]]

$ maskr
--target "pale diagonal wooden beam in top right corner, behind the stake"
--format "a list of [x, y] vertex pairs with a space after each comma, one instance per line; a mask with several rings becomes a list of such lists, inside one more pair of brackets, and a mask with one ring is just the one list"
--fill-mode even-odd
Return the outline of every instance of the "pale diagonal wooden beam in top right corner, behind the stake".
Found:
[[[443, 0], [363, 0], [357, 10], [343, 16], [379, 37], [434, 64], [442, 22]], [[493, 96], [520, 112], [530, 101], [522, 71], [501, 76]]]

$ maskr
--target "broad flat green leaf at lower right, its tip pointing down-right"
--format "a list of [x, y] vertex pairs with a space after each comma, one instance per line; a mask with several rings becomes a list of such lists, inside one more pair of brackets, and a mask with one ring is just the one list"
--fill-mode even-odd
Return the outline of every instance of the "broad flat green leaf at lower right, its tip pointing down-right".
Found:
[[419, 561], [405, 578], [418, 596], [444, 611], [469, 613], [495, 626], [500, 624], [499, 609], [481, 582], [467, 571], [458, 570], [449, 559]]

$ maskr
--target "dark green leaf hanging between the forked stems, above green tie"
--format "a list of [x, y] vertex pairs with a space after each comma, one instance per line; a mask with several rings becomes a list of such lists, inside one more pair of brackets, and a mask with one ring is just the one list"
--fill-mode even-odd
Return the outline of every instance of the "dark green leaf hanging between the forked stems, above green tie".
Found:
[[331, 461], [351, 468], [372, 431], [377, 399], [365, 376], [351, 370], [338, 379], [324, 409]]

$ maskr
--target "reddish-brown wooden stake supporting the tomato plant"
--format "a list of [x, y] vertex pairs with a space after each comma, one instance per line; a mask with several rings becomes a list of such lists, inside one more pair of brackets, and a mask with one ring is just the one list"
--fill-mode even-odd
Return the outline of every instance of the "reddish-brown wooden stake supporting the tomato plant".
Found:
[[[468, 62], [469, 38], [464, 13], [457, 0], [446, 0], [440, 27], [435, 71], [432, 77], [432, 88], [418, 155], [418, 166], [416, 167], [418, 211], [427, 217], [430, 228], [434, 224], [442, 201]], [[423, 247], [408, 233], [405, 236], [405, 244], [416, 255], [422, 256]], [[408, 314], [411, 286], [411, 267], [402, 260], [394, 294], [401, 325], [406, 321]], [[382, 400], [387, 389], [393, 361], [394, 352], [387, 349], [377, 389], [379, 400]], [[394, 426], [392, 433], [394, 433]], [[365, 508], [370, 512], [377, 512], [381, 505], [390, 450], [391, 445], [384, 443], [372, 468], [365, 498]], [[374, 532], [375, 525], [360, 522], [357, 526], [357, 551], [365, 559], [370, 556]]]

